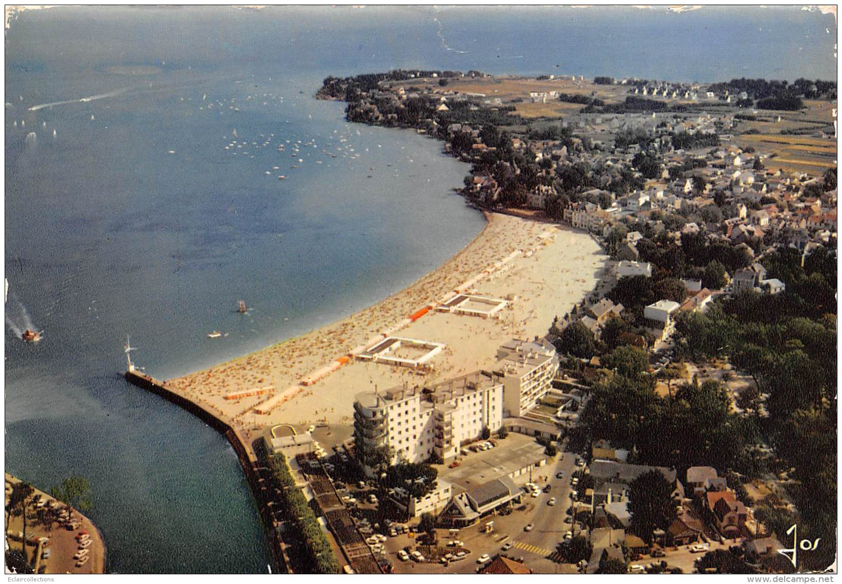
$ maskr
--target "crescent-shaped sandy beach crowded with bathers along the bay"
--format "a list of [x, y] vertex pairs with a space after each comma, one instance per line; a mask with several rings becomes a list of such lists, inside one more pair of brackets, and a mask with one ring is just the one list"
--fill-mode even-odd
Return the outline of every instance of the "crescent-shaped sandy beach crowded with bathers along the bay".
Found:
[[[461, 252], [396, 295], [364, 311], [242, 358], [167, 382], [232, 423], [245, 437], [269, 424], [349, 424], [354, 395], [404, 383], [447, 380], [488, 367], [502, 342], [546, 334], [554, 316], [570, 311], [603, 276], [605, 255], [583, 231], [510, 215], [488, 214], [488, 225]], [[454, 290], [510, 300], [493, 318], [431, 310]], [[442, 342], [431, 371], [348, 358], [392, 332], [400, 337]], [[337, 359], [347, 361], [341, 366]], [[313, 372], [336, 369], [311, 385]], [[259, 395], [226, 399], [232, 393]], [[279, 405], [258, 413], [273, 396]]]

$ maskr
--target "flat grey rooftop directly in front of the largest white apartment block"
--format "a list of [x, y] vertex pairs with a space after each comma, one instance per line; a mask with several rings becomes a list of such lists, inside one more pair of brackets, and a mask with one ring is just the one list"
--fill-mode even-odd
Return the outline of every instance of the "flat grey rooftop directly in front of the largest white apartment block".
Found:
[[495, 439], [495, 442], [497, 446], [485, 452], [470, 452], [467, 456], [460, 454], [462, 464], [455, 469], [436, 465], [440, 478], [450, 482], [454, 492], [467, 491], [546, 459], [545, 448], [530, 436], [510, 432], [507, 438]]

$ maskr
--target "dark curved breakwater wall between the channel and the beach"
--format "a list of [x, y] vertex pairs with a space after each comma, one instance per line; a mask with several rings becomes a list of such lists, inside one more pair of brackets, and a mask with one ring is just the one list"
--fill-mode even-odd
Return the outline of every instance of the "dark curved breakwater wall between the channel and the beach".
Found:
[[164, 381], [157, 380], [136, 369], [126, 371], [125, 380], [132, 385], [136, 385], [141, 389], [151, 391], [157, 396], [163, 397], [176, 406], [183, 407], [226, 438], [228, 443], [231, 444], [232, 449], [234, 449], [234, 452], [237, 453], [237, 459], [240, 461], [242, 472], [246, 475], [248, 486], [252, 490], [254, 502], [257, 503], [260, 518], [264, 523], [264, 532], [269, 541], [269, 548], [272, 550], [272, 559], [274, 560], [272, 571], [274, 573], [290, 574], [289, 558], [286, 556], [284, 542], [280, 538], [280, 522], [275, 518], [272, 507], [267, 504], [269, 502], [268, 484], [264, 477], [261, 476], [260, 470], [258, 470], [260, 467], [258, 459], [254, 454], [249, 452], [245, 440], [240, 433], [225, 420], [216, 417], [212, 412], [194, 401], [190, 401], [176, 391], [169, 389]]

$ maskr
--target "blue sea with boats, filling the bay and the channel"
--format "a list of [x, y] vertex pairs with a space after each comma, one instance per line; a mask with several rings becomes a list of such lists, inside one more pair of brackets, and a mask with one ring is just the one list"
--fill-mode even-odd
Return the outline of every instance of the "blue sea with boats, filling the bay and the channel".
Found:
[[[13, 16], [6, 470], [44, 490], [88, 477], [107, 571], [265, 572], [232, 449], [121, 379], [126, 337], [147, 373], [201, 369], [402, 289], [484, 223], [453, 194], [469, 167], [412, 131], [349, 125], [344, 104], [312, 98], [323, 77], [418, 66], [834, 79], [835, 30], [832, 15], [796, 8]], [[234, 312], [240, 299], [249, 316]], [[44, 339], [25, 344], [25, 327]]]

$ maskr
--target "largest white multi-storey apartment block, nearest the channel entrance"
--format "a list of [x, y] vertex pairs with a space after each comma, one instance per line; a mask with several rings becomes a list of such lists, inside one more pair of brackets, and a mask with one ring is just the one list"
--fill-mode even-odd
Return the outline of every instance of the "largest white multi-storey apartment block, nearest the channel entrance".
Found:
[[392, 462], [453, 459], [462, 443], [503, 426], [503, 380], [473, 373], [432, 387], [367, 391], [354, 401], [357, 449], [388, 447]]

